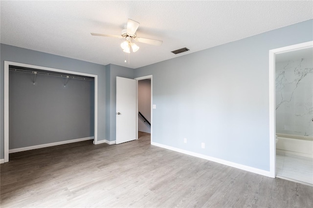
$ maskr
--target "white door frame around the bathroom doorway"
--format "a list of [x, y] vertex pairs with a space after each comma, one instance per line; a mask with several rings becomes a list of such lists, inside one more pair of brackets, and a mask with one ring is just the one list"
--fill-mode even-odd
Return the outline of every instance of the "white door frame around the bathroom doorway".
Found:
[[313, 47], [313, 41], [269, 50], [269, 176], [276, 177], [275, 55]]

